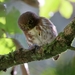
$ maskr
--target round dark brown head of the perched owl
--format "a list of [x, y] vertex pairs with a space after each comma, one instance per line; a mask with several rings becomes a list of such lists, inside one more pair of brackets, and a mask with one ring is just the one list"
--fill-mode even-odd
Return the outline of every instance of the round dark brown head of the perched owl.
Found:
[[19, 17], [18, 25], [23, 31], [29, 31], [38, 24], [39, 18], [35, 13], [27, 11]]

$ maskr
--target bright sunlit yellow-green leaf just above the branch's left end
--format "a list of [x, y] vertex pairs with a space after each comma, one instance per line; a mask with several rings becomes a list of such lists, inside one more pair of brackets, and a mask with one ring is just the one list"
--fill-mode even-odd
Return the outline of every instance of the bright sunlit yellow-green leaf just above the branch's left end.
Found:
[[13, 49], [15, 50], [15, 46], [11, 39], [0, 38], [0, 55], [8, 54]]

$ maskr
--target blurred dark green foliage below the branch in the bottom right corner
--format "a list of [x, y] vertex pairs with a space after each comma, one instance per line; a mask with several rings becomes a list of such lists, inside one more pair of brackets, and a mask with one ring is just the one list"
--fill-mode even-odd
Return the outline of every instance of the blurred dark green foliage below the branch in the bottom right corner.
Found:
[[68, 64], [65, 61], [59, 63], [54, 68], [45, 69], [41, 75], [75, 75], [75, 57]]

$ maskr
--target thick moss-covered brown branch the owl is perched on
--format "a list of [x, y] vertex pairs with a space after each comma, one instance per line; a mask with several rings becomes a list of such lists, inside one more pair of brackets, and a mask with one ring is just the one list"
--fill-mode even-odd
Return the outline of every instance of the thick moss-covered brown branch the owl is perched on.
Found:
[[75, 37], [75, 18], [64, 28], [63, 32], [50, 43], [31, 50], [19, 49], [6, 55], [0, 55], [0, 70], [5, 70], [14, 65], [35, 60], [43, 60], [60, 54], [67, 49], [75, 50], [71, 43]]

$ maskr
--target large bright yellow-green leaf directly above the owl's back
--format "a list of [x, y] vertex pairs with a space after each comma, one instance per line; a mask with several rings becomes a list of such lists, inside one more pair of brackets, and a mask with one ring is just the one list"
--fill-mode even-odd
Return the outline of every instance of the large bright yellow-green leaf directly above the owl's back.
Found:
[[61, 0], [45, 0], [45, 5], [40, 7], [40, 16], [49, 17], [50, 12], [56, 12]]

